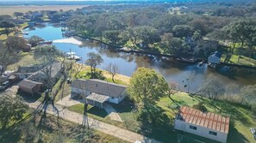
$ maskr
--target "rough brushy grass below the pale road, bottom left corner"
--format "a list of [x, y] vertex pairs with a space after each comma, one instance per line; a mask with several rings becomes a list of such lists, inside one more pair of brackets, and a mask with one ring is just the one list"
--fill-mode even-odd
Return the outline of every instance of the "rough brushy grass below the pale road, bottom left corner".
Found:
[[[56, 116], [48, 116], [41, 120], [42, 116], [24, 116], [22, 122], [1, 130], [0, 142], [106, 142], [106, 143], [128, 143], [109, 134], [87, 129], [73, 122], [59, 119]], [[35, 120], [33, 120], [35, 119]]]

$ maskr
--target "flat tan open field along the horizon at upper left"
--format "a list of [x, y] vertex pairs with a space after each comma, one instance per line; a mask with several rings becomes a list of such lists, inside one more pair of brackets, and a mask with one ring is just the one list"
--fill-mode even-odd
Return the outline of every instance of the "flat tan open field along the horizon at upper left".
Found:
[[70, 9], [78, 9], [86, 7], [86, 5], [44, 5], [44, 6], [38, 6], [38, 5], [30, 5], [30, 6], [0, 6], [0, 15], [13, 15], [14, 12], [28, 12], [30, 11], [41, 11], [41, 10], [59, 10], [62, 9], [64, 11], [70, 10]]

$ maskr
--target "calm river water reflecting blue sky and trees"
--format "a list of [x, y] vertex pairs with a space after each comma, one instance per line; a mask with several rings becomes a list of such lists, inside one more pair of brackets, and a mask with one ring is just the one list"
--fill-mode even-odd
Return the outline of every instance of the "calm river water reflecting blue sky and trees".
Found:
[[[54, 39], [64, 39], [61, 33], [60, 27], [55, 27], [53, 25], [47, 25], [46, 27], [36, 27], [35, 30], [28, 30], [28, 35], [26, 38], [37, 35], [46, 40]], [[165, 80], [177, 82], [180, 89], [184, 89], [184, 82], [190, 77], [190, 91], [196, 91], [198, 86], [202, 85], [209, 74], [215, 75], [219, 80], [222, 80], [225, 85], [230, 83], [237, 83], [240, 86], [255, 84], [256, 75], [236, 72], [236, 74], [230, 74], [225, 69], [208, 69], [206, 66], [199, 67], [196, 65], [190, 65], [186, 63], [177, 63], [163, 60], [152, 60], [149, 57], [132, 55], [128, 53], [116, 53], [109, 51], [108, 49], [102, 49], [96, 44], [91, 44], [89, 42], [84, 43], [83, 46], [74, 44], [64, 44], [64, 43], [53, 43], [60, 51], [68, 52], [70, 50], [77, 53], [86, 60], [86, 54], [94, 51], [103, 57], [103, 64], [98, 66], [100, 69], [105, 69], [109, 63], [115, 63], [119, 69], [120, 74], [125, 74], [131, 76], [139, 67], [146, 67], [150, 69], [157, 70], [160, 74], [163, 74]]]

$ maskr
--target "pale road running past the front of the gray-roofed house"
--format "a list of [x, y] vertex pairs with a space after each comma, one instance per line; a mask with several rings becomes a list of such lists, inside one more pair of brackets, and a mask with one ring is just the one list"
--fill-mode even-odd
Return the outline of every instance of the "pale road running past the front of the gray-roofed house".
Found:
[[[29, 105], [29, 107], [36, 109], [40, 102], [36, 101], [34, 103], [27, 104]], [[81, 114], [78, 114], [71, 110], [67, 110], [66, 107], [58, 104], [56, 105], [56, 108], [59, 110], [59, 117], [67, 121], [76, 122], [78, 124], [81, 124], [83, 122], [83, 116]], [[56, 113], [53, 112], [51, 105], [48, 106], [47, 113], [57, 116]], [[108, 123], [97, 121], [95, 119], [92, 119], [91, 117], [88, 117], [88, 121], [91, 128], [97, 129], [98, 131], [101, 131], [105, 134], [116, 136], [117, 138], [120, 138], [122, 140], [127, 140], [129, 142], [135, 142], [136, 140], [140, 140], [147, 143], [159, 143], [159, 141], [147, 138], [141, 134], [136, 134], [126, 129], [118, 128]]]

